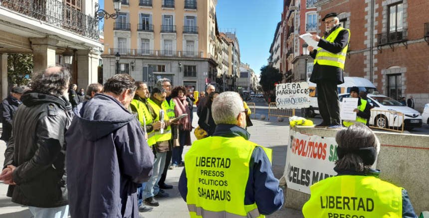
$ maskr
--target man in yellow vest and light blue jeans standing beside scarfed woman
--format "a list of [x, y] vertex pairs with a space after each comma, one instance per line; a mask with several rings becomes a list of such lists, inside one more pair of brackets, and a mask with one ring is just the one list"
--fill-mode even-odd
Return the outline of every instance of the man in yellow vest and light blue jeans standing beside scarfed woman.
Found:
[[149, 140], [148, 144], [151, 144], [151, 139], [154, 139], [154, 143], [152, 148], [155, 155], [154, 162], [154, 170], [151, 179], [148, 181], [145, 189], [144, 196], [145, 203], [149, 206], [159, 206], [158, 201], [155, 200], [157, 198], [166, 198], [169, 194], [164, 191], [160, 191], [159, 189], [155, 189], [155, 186], [158, 184], [160, 179], [160, 175], [164, 170], [165, 159], [167, 158], [167, 151], [170, 149], [169, 141], [172, 138], [171, 134], [171, 125], [177, 124], [177, 122], [173, 122], [172, 119], [169, 119], [167, 115], [167, 108], [164, 106], [164, 101], [167, 96], [167, 90], [163, 87], [154, 87], [151, 91], [151, 97], [148, 100], [148, 105], [152, 108], [152, 122], [156, 123], [160, 120], [161, 112], [164, 113], [164, 122], [161, 121], [161, 128], [163, 132], [160, 130], [154, 130], [153, 132], [149, 132]]

